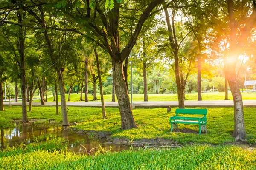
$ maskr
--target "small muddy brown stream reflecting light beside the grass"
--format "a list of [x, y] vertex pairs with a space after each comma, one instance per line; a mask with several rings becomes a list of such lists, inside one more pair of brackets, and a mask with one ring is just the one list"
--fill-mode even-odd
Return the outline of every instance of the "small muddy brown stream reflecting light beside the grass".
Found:
[[[40, 136], [45, 134], [54, 134], [58, 137], [62, 137], [68, 141], [68, 148], [70, 152], [86, 153], [90, 150], [90, 154], [94, 154], [99, 145], [102, 148], [106, 148], [111, 151], [121, 151], [129, 149], [128, 146], [121, 144], [104, 144], [105, 139], [93, 140], [88, 136], [82, 136], [75, 132], [62, 129], [59, 125], [40, 125], [40, 124], [16, 124], [15, 128], [1, 130], [1, 144], [0, 147], [5, 148], [7, 145], [10, 147], [15, 145], [29, 144], [34, 142], [33, 136]], [[96, 149], [93, 149], [96, 148]]]

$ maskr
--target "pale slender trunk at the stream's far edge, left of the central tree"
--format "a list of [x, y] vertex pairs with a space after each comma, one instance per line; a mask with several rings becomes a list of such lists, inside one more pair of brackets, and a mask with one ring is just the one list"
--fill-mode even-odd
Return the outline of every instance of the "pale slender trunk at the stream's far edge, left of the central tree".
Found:
[[57, 70], [57, 75], [58, 75], [58, 82], [59, 82], [59, 88], [60, 88], [60, 94], [61, 94], [62, 125], [68, 126], [69, 122], [67, 119], [67, 103], [66, 103], [66, 96], [65, 96], [65, 88], [64, 88], [64, 82], [63, 82], [63, 74], [61, 73], [60, 69]]

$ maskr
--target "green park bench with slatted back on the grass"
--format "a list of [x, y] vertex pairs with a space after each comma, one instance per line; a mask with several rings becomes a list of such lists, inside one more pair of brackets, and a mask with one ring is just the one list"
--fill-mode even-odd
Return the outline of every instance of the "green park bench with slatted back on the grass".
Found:
[[[199, 125], [199, 134], [201, 131], [205, 133], [206, 124], [207, 124], [207, 109], [176, 109], [175, 116], [170, 117], [171, 123], [171, 131], [172, 129], [178, 128], [178, 123], [183, 124], [192, 124], [192, 125]], [[185, 116], [178, 116], [179, 114], [183, 115], [203, 115], [203, 117], [185, 117]]]

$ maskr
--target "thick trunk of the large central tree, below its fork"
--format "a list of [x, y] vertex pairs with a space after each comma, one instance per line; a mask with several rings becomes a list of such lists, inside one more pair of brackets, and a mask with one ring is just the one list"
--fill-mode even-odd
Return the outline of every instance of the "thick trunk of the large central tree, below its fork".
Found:
[[112, 59], [116, 96], [121, 115], [121, 129], [137, 128], [129, 102], [122, 62]]

